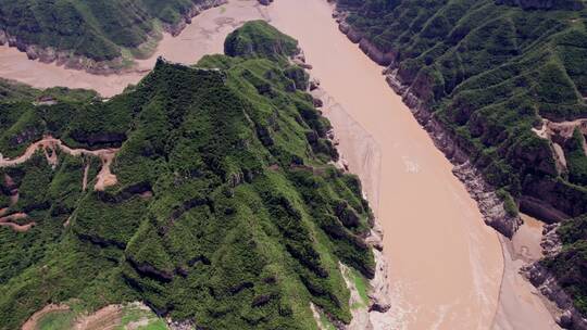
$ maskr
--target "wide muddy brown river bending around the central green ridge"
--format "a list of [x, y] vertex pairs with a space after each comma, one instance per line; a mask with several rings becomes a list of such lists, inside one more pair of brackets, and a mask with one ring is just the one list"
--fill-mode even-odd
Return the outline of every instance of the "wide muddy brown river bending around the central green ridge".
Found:
[[[165, 36], [155, 55], [193, 63], [205, 53], [222, 52], [225, 36], [253, 18], [270, 20], [297, 38], [313, 65], [312, 76], [336, 100], [336, 111], [325, 114], [385, 232], [392, 307], [382, 328], [511, 327], [508, 318], [517, 317], [517, 307], [500, 303], [504, 269], [511, 270], [504, 267], [498, 234], [485, 226], [476, 203], [452, 175], [452, 165], [387, 86], [383, 67], [338, 31], [325, 0], [275, 0], [266, 9], [257, 1], [233, 0], [193, 18], [177, 38]], [[139, 65], [148, 68], [153, 61]], [[14, 49], [0, 48], [0, 76], [36, 87], [93, 88], [110, 97], [142, 75], [93, 76], [27, 61]], [[529, 294], [530, 289], [512, 290]], [[548, 319], [544, 306], [532, 308]]]

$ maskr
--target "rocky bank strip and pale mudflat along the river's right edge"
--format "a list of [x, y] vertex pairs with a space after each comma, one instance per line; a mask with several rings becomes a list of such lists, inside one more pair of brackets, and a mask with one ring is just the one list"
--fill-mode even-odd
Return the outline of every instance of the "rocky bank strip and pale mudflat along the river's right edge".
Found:
[[[351, 42], [359, 43], [359, 49], [372, 61], [383, 66], [392, 64], [389, 62], [389, 59], [394, 58], [392, 54], [382, 53], [366, 39], [362, 39], [345, 24], [344, 13], [335, 11], [333, 17], [337, 18], [339, 30], [347, 35]], [[471, 164], [466, 152], [461, 150], [441, 124], [433, 118], [409, 86], [403, 86], [397, 79], [397, 71], [390, 67], [392, 65], [384, 71], [388, 85], [402, 97], [414, 118], [428, 131], [435, 145], [454, 165], [454, 175], [477, 201], [485, 223], [505, 236], [498, 234], [503, 252], [503, 274], [499, 301], [491, 322], [492, 329], [560, 329], [554, 321], [560, 316], [560, 310], [521, 275], [523, 267], [541, 257], [541, 223], [527, 216], [523, 216], [522, 221], [516, 216], [508, 215], [504, 203]], [[530, 252], [528, 246], [533, 246]]]

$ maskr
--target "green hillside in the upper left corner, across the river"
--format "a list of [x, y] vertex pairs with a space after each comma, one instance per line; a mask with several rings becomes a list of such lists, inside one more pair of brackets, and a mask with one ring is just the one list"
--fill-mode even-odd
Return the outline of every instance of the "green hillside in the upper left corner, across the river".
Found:
[[[0, 0], [0, 33], [16, 45], [111, 61], [130, 49], [146, 55], [158, 26], [173, 29], [203, 0]], [[142, 47], [140, 47], [142, 45]], [[23, 48], [24, 49], [24, 48]]]

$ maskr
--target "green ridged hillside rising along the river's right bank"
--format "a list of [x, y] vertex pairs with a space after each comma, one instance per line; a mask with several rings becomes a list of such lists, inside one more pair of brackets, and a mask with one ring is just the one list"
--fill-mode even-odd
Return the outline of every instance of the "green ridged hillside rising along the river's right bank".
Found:
[[[533, 212], [526, 198], [578, 230], [587, 213], [587, 155], [577, 129], [555, 166], [542, 119], [587, 117], [587, 9], [584, 1], [338, 0], [349, 36], [409, 86], [486, 180], [508, 213]], [[370, 47], [371, 46], [371, 47]], [[519, 203], [522, 201], [522, 204]], [[553, 219], [551, 219], [553, 220]], [[583, 230], [582, 232], [584, 232]], [[577, 307], [587, 312], [586, 237], [565, 240], [549, 261]]]

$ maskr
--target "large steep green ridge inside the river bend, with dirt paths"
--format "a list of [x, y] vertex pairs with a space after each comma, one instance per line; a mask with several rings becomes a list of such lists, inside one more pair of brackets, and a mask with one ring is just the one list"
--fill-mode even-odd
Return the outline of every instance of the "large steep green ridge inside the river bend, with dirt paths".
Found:
[[143, 301], [201, 329], [316, 329], [310, 302], [350, 321], [339, 262], [357, 281], [375, 269], [361, 185], [329, 164], [338, 156], [329, 123], [290, 78], [307, 79], [286, 61], [297, 42], [260, 23], [227, 47], [234, 39], [254, 54], [208, 56], [196, 67], [159, 60], [108, 102], [64, 90], [54, 105], [0, 100], [7, 155], [46, 134], [121, 148], [118, 183], [103, 192], [82, 191], [85, 166], [88, 187], [100, 166], [92, 158], [60, 154], [52, 169], [39, 152], [0, 169], [20, 192], [11, 205], [14, 187], [0, 182], [0, 207], [37, 223], [21, 233], [0, 227], [0, 329], [72, 299], [89, 310]]

